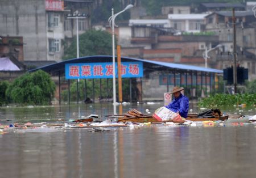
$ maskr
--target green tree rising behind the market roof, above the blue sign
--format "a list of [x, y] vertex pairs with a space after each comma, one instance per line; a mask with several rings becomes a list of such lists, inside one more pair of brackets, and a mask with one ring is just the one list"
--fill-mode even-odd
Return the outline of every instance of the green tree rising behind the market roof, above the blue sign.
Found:
[[[64, 60], [76, 58], [76, 38], [65, 50]], [[79, 35], [80, 56], [112, 54], [112, 35], [107, 31], [89, 30]]]

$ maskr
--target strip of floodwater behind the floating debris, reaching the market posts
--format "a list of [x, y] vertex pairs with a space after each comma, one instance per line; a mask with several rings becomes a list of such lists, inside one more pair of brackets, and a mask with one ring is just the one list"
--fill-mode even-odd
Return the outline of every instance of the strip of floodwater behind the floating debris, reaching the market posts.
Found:
[[[131, 108], [138, 109], [139, 111], [146, 113], [146, 109], [150, 113], [163, 106], [164, 103], [144, 103], [144, 104], [126, 104], [122, 105], [122, 109], [119, 109], [119, 113], [127, 112]], [[189, 103], [189, 112], [200, 112], [200, 108], [197, 107], [197, 103]], [[255, 115], [256, 111], [254, 107], [239, 108], [229, 107], [221, 108], [222, 113], [237, 113], [242, 115]], [[71, 104], [71, 105], [54, 105], [43, 107], [2, 107], [0, 108], [0, 119], [14, 120], [22, 122], [36, 122], [36, 121], [68, 121], [69, 119], [81, 118], [81, 116], [88, 116], [96, 114], [105, 118], [105, 116], [113, 115], [112, 103], [96, 103], [96, 104]], [[147, 113], [146, 113], [147, 114]]]

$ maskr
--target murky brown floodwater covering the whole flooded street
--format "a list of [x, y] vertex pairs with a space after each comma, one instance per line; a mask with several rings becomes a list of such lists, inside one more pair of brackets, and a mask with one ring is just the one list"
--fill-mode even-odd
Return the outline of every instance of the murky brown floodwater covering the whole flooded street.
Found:
[[[123, 105], [154, 112], [163, 103]], [[191, 105], [193, 112], [200, 111]], [[117, 108], [117, 111], [119, 109]], [[254, 108], [224, 112], [255, 115]], [[2, 124], [68, 122], [112, 104], [3, 107]], [[256, 128], [243, 126], [144, 126], [42, 129], [0, 135], [0, 177], [255, 177]]]

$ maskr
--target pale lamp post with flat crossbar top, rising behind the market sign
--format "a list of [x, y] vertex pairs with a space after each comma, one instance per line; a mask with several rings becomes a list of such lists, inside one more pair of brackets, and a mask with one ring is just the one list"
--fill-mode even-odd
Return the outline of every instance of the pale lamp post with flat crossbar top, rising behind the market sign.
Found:
[[[73, 12], [73, 14], [68, 14], [67, 19], [76, 19], [76, 57], [79, 58], [79, 25], [78, 19], [85, 19], [86, 14], [80, 14], [79, 11]], [[76, 80], [77, 89], [77, 104], [79, 103], [79, 79]]]

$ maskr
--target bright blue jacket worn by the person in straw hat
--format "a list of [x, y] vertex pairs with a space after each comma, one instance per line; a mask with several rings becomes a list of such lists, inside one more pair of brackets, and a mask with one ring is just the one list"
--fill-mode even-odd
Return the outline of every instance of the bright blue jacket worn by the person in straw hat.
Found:
[[173, 112], [180, 113], [181, 117], [187, 118], [188, 116], [188, 108], [189, 102], [188, 98], [182, 94], [178, 98], [174, 98], [170, 104], [165, 106], [166, 108], [170, 109]]

